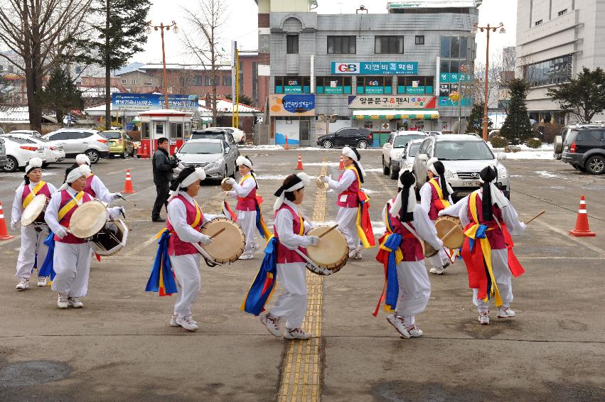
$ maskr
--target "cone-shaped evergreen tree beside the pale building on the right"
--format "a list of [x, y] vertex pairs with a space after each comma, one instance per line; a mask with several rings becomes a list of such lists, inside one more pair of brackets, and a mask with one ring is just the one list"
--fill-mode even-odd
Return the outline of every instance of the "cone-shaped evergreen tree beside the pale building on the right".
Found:
[[528, 83], [520, 78], [515, 78], [508, 82], [510, 104], [506, 120], [500, 129], [500, 136], [508, 139], [511, 145], [523, 143], [532, 134], [528, 107], [525, 104], [528, 89]]

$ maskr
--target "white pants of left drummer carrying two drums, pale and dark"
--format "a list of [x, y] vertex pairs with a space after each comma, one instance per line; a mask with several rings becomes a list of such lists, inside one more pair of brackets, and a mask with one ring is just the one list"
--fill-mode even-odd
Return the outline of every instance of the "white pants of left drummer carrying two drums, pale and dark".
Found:
[[89, 243], [69, 244], [55, 241], [53, 268], [57, 274], [51, 288], [67, 293], [73, 298], [82, 298], [88, 292], [90, 258], [92, 248]]

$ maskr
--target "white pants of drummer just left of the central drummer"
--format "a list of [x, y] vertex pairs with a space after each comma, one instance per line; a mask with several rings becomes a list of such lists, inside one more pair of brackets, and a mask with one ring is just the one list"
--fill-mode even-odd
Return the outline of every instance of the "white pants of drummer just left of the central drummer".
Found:
[[191, 306], [196, 302], [202, 289], [200, 257], [200, 254], [170, 256], [170, 264], [176, 276], [176, 287], [178, 288], [174, 312], [181, 318], [191, 315]]

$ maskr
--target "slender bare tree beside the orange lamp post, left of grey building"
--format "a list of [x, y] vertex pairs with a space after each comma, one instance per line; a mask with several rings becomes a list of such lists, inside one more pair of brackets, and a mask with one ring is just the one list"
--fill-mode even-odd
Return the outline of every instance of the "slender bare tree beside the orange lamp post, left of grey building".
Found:
[[212, 78], [212, 118], [216, 125], [216, 86], [220, 60], [225, 55], [220, 48], [220, 29], [227, 19], [225, 0], [198, 0], [198, 9], [184, 9], [189, 30], [183, 35], [183, 43], [198, 58], [201, 65], [210, 65]]

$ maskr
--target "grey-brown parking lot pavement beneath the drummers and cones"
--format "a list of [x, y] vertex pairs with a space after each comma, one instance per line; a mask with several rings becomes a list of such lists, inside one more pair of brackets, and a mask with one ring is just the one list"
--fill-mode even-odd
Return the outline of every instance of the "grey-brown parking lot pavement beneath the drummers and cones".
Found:
[[[242, 151], [255, 163], [264, 217], [272, 227], [273, 192], [294, 173], [297, 151]], [[326, 164], [338, 175], [339, 151], [303, 151], [306, 173], [316, 177]], [[375, 234], [380, 211], [396, 182], [382, 175], [380, 151], [362, 151], [368, 172]], [[50, 165], [45, 179], [59, 185], [72, 161]], [[289, 342], [269, 335], [240, 304], [262, 255], [230, 266], [201, 266], [202, 292], [193, 309], [200, 330], [168, 326], [171, 297], [144, 292], [161, 224], [150, 221], [155, 188], [149, 160], [103, 160], [93, 165], [110, 191], [124, 188], [131, 171], [136, 204], [127, 208], [132, 232], [116, 256], [92, 261], [90, 289], [82, 310], [58, 310], [50, 288], [16, 292], [14, 266], [20, 244], [0, 241], [0, 400], [274, 400], [301, 349], [288, 361]], [[462, 261], [444, 276], [431, 276], [432, 296], [417, 317], [419, 339], [400, 339], [374, 310], [382, 291], [376, 249], [323, 278], [316, 298], [323, 317], [318, 373], [324, 401], [414, 401], [488, 398], [518, 400], [603, 400], [605, 329], [602, 267], [605, 263], [605, 176], [585, 175], [560, 161], [505, 161], [512, 178], [511, 200], [521, 219], [547, 214], [515, 237], [515, 251], [527, 273], [514, 280], [517, 317], [478, 325]], [[23, 173], [0, 173], [6, 222], [14, 189]], [[218, 183], [205, 183], [198, 202], [218, 213]], [[304, 211], [314, 212], [316, 186], [306, 192]], [[569, 237], [580, 195], [594, 238]], [[328, 192], [326, 216], [336, 217]], [[257, 239], [260, 243], [260, 240]], [[309, 275], [313, 275], [309, 273]], [[279, 280], [278, 280], [279, 282]], [[281, 291], [278, 286], [276, 295]], [[300, 363], [299, 359], [299, 363]], [[302, 367], [301, 366], [301, 367]], [[303, 370], [301, 368], [301, 370]], [[313, 371], [316, 370], [316, 371]], [[294, 369], [292, 370], [292, 372]], [[306, 378], [306, 377], [305, 377]], [[304, 401], [304, 384], [299, 392]]]

